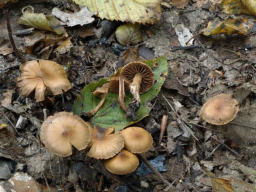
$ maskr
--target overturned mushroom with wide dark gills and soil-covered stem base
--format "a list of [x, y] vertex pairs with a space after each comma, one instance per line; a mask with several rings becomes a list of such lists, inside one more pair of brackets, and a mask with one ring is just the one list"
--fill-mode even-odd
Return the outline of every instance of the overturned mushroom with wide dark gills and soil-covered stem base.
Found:
[[134, 98], [129, 104], [127, 116], [133, 121], [136, 121], [136, 112], [140, 109], [140, 94], [152, 88], [154, 84], [154, 73], [147, 64], [133, 62], [123, 66], [121, 74], [132, 82], [130, 84], [130, 92]]

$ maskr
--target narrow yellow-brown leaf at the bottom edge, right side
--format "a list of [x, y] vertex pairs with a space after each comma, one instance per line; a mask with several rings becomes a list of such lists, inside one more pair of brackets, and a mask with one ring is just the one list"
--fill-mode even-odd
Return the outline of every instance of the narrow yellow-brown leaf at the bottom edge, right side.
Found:
[[217, 178], [211, 171], [208, 171], [206, 167], [202, 166], [201, 168], [211, 179], [213, 186], [212, 192], [234, 192], [230, 180]]

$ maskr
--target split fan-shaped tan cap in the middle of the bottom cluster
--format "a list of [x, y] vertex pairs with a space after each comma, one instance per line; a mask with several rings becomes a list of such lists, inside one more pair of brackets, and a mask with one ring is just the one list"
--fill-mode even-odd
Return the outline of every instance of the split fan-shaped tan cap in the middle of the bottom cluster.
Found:
[[91, 148], [87, 155], [94, 159], [109, 159], [120, 152], [124, 145], [123, 137], [120, 132], [114, 131], [114, 127], [102, 128], [95, 125], [91, 133]]

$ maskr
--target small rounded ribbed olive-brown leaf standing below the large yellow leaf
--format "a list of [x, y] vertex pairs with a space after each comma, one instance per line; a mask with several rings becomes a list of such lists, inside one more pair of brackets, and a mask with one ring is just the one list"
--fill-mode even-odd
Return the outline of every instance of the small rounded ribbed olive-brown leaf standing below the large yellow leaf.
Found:
[[139, 24], [127, 23], [116, 30], [116, 38], [124, 46], [130, 43], [138, 43], [142, 40]]

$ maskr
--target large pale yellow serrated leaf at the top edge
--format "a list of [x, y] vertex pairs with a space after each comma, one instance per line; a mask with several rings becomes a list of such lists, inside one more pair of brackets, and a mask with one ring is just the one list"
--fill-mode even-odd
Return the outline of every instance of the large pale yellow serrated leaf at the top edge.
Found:
[[161, 0], [73, 0], [78, 5], [87, 6], [98, 17], [131, 23], [150, 23], [161, 17]]

